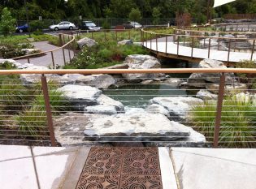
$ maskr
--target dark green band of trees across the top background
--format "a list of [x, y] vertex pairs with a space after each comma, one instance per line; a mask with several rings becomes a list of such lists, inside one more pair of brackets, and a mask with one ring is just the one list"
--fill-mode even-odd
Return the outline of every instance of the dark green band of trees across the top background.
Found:
[[[128, 18], [132, 8], [141, 11], [141, 17], [150, 18], [161, 13], [165, 18], [188, 13], [204, 20], [207, 0], [27, 0], [29, 19]], [[211, 0], [211, 5], [213, 0]], [[0, 0], [0, 11], [8, 7], [18, 20], [25, 20], [24, 1]], [[255, 13], [256, 0], [236, 0], [212, 11], [215, 17], [228, 13]], [[154, 18], [157, 18], [153, 16]]]

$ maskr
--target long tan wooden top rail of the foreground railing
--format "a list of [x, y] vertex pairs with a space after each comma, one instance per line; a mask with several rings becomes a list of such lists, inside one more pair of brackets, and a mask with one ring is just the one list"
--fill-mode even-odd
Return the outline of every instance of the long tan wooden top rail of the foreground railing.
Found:
[[85, 70], [0, 70], [0, 75], [15, 74], [138, 74], [138, 73], [249, 73], [256, 74], [253, 68], [171, 68], [171, 69], [85, 69]]

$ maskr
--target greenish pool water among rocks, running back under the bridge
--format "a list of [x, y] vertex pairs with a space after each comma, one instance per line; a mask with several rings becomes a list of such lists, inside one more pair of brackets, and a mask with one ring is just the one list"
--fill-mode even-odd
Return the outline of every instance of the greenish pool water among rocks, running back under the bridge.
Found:
[[[197, 64], [186, 63], [175, 60], [161, 60], [163, 68], [196, 67]], [[170, 74], [171, 78], [189, 78], [190, 74]], [[174, 84], [124, 84], [119, 88], [109, 88], [103, 93], [121, 101], [125, 106], [142, 107], [149, 105], [154, 97], [188, 97], [192, 95], [187, 90], [178, 88]]]

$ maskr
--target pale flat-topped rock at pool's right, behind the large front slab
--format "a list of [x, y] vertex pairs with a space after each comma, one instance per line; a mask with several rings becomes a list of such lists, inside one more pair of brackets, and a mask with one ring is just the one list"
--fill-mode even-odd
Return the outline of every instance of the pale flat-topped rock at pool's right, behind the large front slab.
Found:
[[194, 97], [154, 97], [150, 100], [151, 104], [162, 105], [166, 108], [170, 115], [178, 116], [174, 120], [179, 120], [179, 117], [184, 119], [193, 105], [202, 104], [202, 102], [202, 99]]

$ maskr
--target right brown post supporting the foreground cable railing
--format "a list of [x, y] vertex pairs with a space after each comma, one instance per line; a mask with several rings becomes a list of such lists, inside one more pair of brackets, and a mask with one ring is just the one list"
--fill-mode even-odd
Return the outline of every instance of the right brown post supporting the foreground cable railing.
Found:
[[221, 114], [223, 107], [223, 98], [224, 98], [224, 88], [225, 88], [225, 74], [222, 73], [219, 80], [219, 96], [217, 102], [216, 118], [215, 118], [215, 135], [214, 135], [214, 148], [219, 146], [219, 131], [221, 123]]

